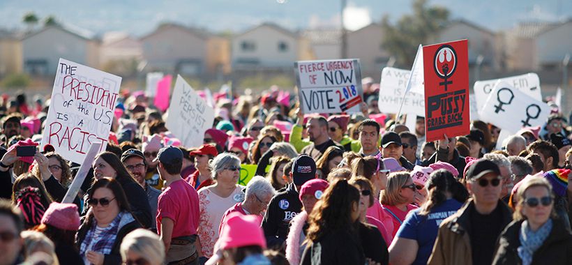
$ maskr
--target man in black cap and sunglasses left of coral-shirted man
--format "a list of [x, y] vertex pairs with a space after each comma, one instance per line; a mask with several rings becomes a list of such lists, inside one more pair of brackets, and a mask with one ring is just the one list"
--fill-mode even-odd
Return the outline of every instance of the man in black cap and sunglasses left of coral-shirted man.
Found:
[[[145, 174], [147, 171], [147, 164], [145, 157], [142, 151], [137, 149], [129, 149], [123, 152], [121, 155], [121, 162], [127, 168], [129, 173], [133, 176], [135, 181], [143, 186], [143, 189], [147, 193], [147, 199], [149, 199], [149, 206], [151, 206], [151, 214], [153, 216], [157, 216], [157, 203], [159, 199], [159, 195], [161, 194], [160, 190], [151, 187], [151, 185], [147, 184], [145, 181]], [[151, 218], [152, 225], [151, 231], [157, 231], [157, 223], [155, 218]]]

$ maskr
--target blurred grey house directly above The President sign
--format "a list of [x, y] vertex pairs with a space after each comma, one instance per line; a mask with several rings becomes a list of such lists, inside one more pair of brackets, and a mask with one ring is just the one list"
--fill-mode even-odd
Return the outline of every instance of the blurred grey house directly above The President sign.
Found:
[[61, 25], [43, 27], [22, 39], [24, 72], [55, 75], [60, 58], [99, 68], [99, 46], [90, 33]]

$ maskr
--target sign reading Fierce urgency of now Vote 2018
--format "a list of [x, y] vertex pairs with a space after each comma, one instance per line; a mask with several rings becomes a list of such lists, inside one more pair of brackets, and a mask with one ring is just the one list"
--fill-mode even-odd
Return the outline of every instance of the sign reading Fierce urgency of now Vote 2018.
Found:
[[304, 113], [360, 112], [359, 59], [296, 61], [294, 74]]

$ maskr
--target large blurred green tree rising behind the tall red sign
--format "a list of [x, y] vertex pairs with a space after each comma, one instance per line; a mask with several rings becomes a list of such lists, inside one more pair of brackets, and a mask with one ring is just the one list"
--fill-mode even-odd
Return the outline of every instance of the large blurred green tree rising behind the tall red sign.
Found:
[[413, 14], [403, 15], [396, 25], [384, 16], [383, 47], [396, 57], [398, 66], [411, 68], [419, 44], [429, 44], [431, 36], [441, 31], [449, 22], [449, 10], [440, 6], [427, 6], [427, 0], [415, 0]]

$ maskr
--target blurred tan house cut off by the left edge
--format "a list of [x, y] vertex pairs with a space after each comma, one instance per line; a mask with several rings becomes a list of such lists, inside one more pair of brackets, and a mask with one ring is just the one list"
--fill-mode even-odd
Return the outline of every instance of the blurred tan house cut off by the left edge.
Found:
[[0, 30], [0, 77], [22, 73], [22, 44], [13, 31]]

